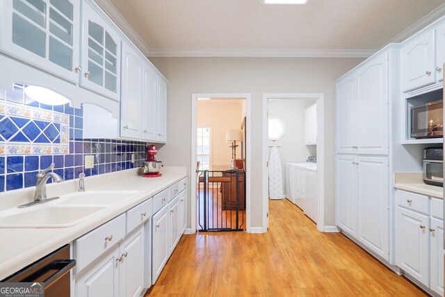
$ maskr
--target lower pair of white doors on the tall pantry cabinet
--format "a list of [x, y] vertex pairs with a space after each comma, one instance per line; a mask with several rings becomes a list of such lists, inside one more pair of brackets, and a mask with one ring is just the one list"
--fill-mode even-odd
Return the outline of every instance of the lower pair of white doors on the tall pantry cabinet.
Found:
[[388, 260], [388, 158], [338, 155], [337, 170], [337, 226]]

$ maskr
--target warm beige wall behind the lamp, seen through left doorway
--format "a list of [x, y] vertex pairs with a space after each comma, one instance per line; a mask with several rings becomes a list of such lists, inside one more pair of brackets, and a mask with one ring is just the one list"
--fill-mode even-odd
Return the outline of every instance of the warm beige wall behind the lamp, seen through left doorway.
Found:
[[[196, 125], [211, 128], [212, 170], [229, 169], [232, 159], [231, 143], [225, 142], [227, 129], [241, 129], [245, 99], [211, 99], [197, 101]], [[241, 145], [241, 143], [236, 143]], [[241, 147], [236, 148], [236, 158], [241, 158]]]

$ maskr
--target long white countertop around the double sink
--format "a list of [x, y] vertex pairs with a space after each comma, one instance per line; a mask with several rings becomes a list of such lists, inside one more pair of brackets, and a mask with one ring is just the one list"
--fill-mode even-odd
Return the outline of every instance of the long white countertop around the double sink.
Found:
[[[124, 202], [107, 207], [77, 225], [65, 228], [0, 229], [0, 280], [151, 198], [154, 194], [175, 184], [187, 175], [185, 167], [164, 167], [162, 177], [143, 178], [137, 172], [138, 169], [133, 169], [86, 177], [86, 191], [140, 190], [143, 192]], [[74, 191], [76, 182], [77, 180], [48, 184], [48, 197]], [[2, 193], [0, 201], [3, 203], [0, 204], [0, 210], [31, 201], [33, 196], [30, 196], [30, 193], [33, 193], [33, 189], [34, 187]]]

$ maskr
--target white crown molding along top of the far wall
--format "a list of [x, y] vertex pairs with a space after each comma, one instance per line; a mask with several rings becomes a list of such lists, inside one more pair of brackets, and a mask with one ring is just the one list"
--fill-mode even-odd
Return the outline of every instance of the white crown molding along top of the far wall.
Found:
[[369, 49], [150, 49], [149, 57], [369, 58]]

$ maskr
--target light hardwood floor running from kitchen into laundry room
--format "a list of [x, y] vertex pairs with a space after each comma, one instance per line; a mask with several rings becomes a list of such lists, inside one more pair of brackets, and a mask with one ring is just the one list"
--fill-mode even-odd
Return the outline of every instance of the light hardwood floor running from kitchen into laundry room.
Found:
[[426, 296], [288, 200], [269, 202], [266, 234], [184, 235], [145, 296]]

